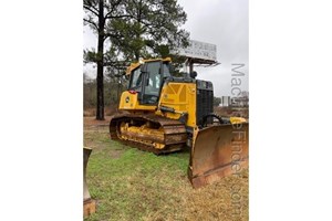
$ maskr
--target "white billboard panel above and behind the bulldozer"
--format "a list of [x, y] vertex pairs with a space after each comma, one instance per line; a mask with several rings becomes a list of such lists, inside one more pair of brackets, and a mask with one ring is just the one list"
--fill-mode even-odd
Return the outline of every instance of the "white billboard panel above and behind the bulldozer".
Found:
[[190, 40], [186, 49], [179, 48], [175, 52], [187, 57], [217, 61], [216, 44]]

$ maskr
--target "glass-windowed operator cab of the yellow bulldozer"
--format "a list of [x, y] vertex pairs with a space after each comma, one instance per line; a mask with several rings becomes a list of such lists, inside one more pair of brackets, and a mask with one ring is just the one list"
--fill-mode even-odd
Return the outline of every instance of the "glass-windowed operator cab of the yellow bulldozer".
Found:
[[147, 61], [131, 73], [128, 91], [138, 93], [141, 105], [158, 103], [164, 77], [170, 76], [168, 60]]

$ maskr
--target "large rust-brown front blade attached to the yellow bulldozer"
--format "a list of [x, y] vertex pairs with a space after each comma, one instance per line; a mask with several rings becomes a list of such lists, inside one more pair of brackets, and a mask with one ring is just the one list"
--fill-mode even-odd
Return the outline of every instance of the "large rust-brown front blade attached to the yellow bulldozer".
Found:
[[248, 123], [219, 125], [194, 133], [188, 177], [194, 188], [204, 187], [248, 167]]

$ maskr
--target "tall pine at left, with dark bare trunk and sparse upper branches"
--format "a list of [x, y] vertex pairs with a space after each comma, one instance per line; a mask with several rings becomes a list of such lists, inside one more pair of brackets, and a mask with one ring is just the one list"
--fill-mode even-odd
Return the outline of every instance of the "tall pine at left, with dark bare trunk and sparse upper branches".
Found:
[[85, 51], [85, 62], [94, 62], [97, 64], [97, 104], [96, 119], [104, 119], [104, 43], [113, 34], [106, 29], [108, 20], [127, 17], [123, 11], [122, 0], [83, 0], [83, 9], [85, 17], [84, 24], [97, 35], [97, 52]]

